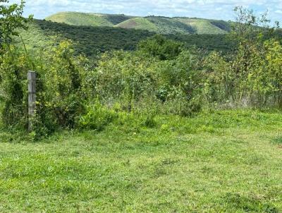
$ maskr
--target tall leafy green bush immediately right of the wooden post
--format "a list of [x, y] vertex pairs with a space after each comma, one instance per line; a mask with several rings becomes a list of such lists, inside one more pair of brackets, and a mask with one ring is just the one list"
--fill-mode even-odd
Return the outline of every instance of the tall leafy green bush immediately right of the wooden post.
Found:
[[73, 128], [83, 114], [87, 100], [87, 59], [73, 56], [68, 41], [44, 52], [41, 68], [44, 76], [44, 105], [51, 107], [60, 126]]

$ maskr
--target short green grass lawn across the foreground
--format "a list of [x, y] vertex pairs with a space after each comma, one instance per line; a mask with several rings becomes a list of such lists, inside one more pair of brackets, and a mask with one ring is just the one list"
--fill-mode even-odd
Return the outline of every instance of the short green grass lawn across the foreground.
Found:
[[0, 212], [281, 212], [281, 168], [280, 112], [158, 116], [0, 142]]

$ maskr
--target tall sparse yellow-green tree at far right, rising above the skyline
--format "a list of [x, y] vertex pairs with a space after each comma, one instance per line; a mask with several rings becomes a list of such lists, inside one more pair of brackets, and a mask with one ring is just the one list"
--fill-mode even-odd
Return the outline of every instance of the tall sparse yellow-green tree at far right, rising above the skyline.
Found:
[[[238, 43], [238, 48], [230, 61], [231, 73], [228, 75], [233, 79], [233, 100], [244, 101], [252, 106], [265, 106], [276, 95], [276, 85], [280, 85], [278, 78], [274, 80], [273, 76], [274, 73], [281, 73], [281, 70], [269, 67], [269, 61], [266, 60], [273, 58], [270, 51], [281, 47], [280, 42], [274, 39], [279, 25], [276, 22], [274, 28], [270, 27], [267, 12], [256, 16], [254, 11], [243, 7], [235, 7], [234, 11], [236, 19], [232, 24], [231, 37]], [[281, 56], [280, 50], [276, 53]]]

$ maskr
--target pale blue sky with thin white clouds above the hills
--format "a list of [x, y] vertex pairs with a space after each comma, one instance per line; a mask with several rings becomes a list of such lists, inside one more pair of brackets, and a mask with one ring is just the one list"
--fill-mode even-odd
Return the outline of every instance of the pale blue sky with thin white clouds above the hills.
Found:
[[[17, 3], [19, 0], [10, 0]], [[257, 13], [269, 11], [271, 20], [282, 22], [282, 0], [25, 0], [25, 16], [46, 18], [61, 11], [124, 13], [134, 16], [187, 16], [233, 20], [234, 6], [245, 6]]]

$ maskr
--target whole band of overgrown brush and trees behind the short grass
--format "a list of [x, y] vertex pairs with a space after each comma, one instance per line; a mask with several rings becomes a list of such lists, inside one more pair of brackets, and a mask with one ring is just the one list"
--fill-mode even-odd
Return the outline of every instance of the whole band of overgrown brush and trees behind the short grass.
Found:
[[[231, 33], [238, 42], [223, 56], [190, 48], [161, 35], [142, 41], [137, 51], [111, 51], [92, 64], [76, 55], [71, 41], [54, 43], [38, 54], [13, 44], [25, 28], [23, 3], [1, 8], [1, 121], [27, 127], [27, 71], [37, 72], [36, 115], [31, 138], [59, 129], [103, 130], [109, 125], [154, 127], [157, 114], [192, 116], [218, 107], [282, 107], [282, 46], [264, 35], [264, 16], [236, 8]], [[10, 14], [11, 13], [11, 14]], [[13, 15], [14, 14], [14, 15]], [[9, 25], [11, 22], [11, 25]], [[16, 24], [13, 24], [16, 23]], [[6, 31], [5, 31], [6, 30]]]

